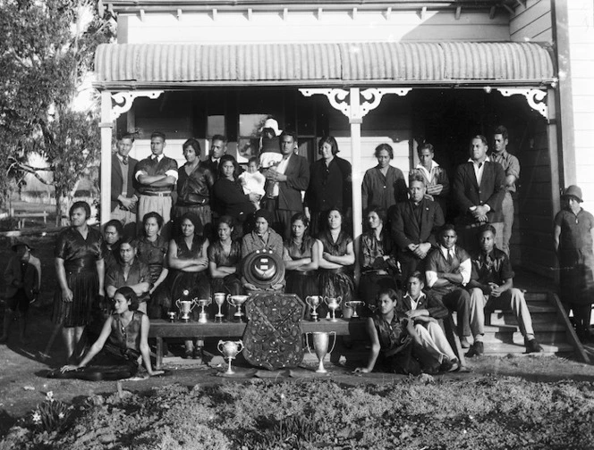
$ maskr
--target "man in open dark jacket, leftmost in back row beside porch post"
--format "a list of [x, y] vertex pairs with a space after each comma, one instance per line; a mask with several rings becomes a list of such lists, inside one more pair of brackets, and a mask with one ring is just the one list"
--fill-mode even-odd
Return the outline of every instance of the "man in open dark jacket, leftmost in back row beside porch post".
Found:
[[[132, 134], [124, 134], [117, 141], [117, 152], [112, 156], [111, 218], [122, 222], [124, 233], [136, 231], [136, 180], [134, 167], [138, 162], [128, 156], [134, 144]], [[140, 218], [141, 219], [141, 218]]]

